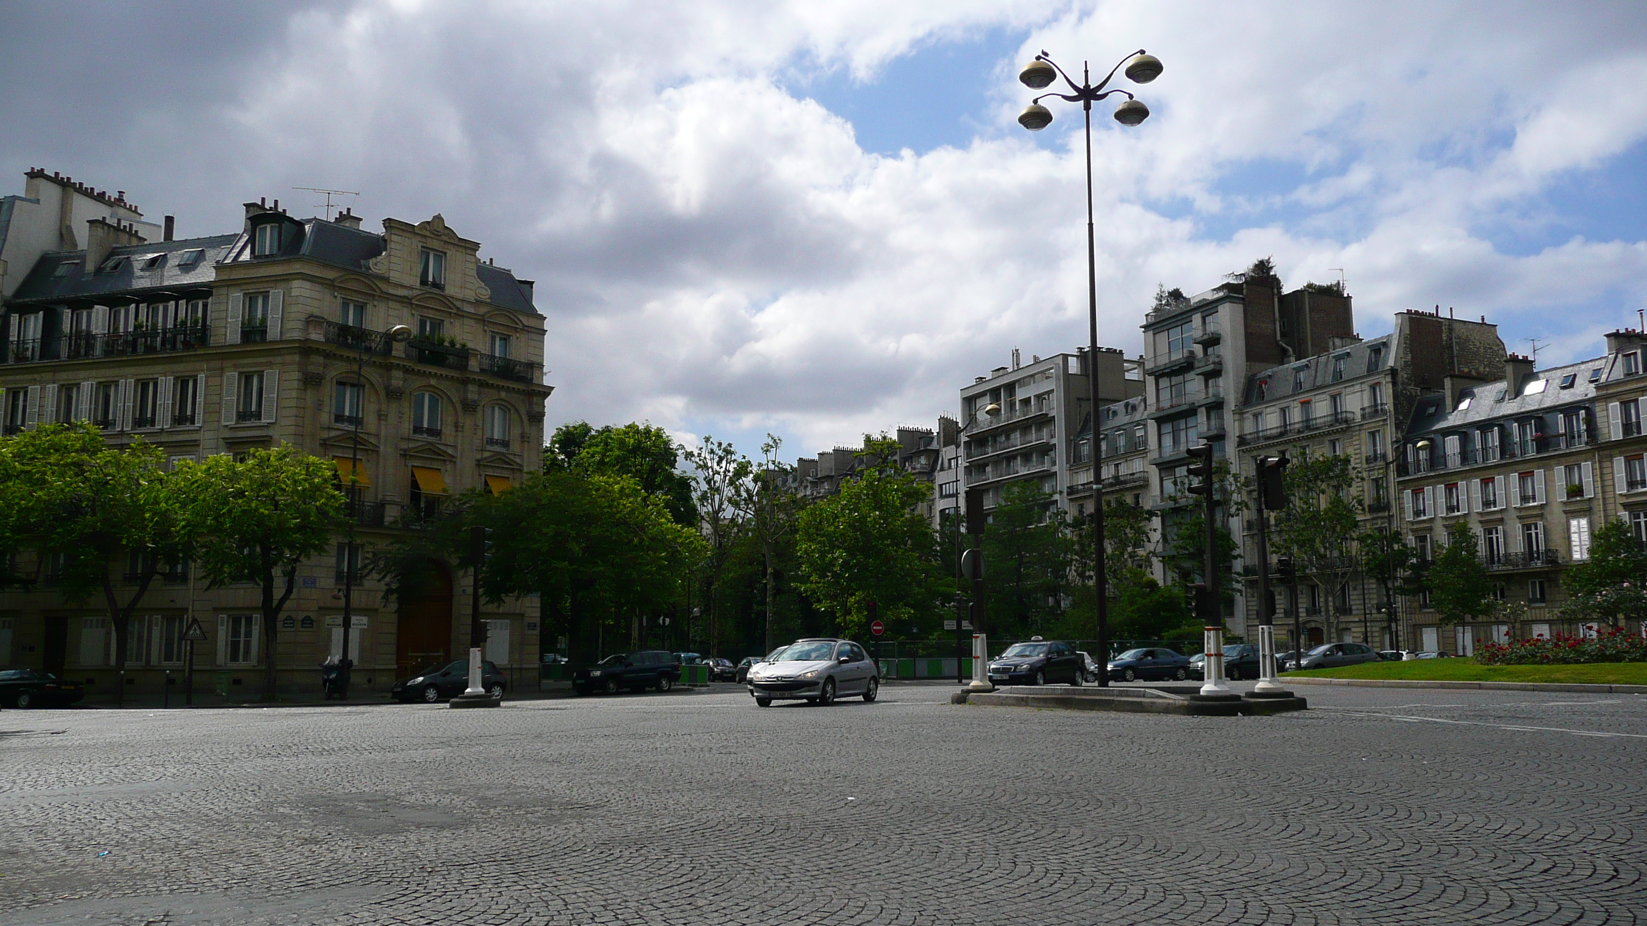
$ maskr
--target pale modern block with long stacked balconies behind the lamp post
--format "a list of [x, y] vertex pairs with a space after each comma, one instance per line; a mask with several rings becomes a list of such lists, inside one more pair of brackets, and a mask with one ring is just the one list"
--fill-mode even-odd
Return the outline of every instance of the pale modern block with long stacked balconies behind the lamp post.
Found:
[[[1061, 509], [1077, 511], [1075, 506], [1085, 504], [1071, 489], [1084, 481], [1090, 496], [1090, 461], [1079, 476], [1072, 461], [1077, 435], [1084, 425], [1090, 430], [1087, 367], [1087, 351], [1021, 364], [1015, 349], [1011, 366], [995, 367], [962, 387], [960, 483], [983, 489], [985, 511], [1000, 504], [1006, 486], [1024, 481], [1054, 496]], [[1143, 395], [1141, 361], [1099, 348], [1095, 367], [1100, 405]], [[996, 414], [990, 414], [991, 405]]]

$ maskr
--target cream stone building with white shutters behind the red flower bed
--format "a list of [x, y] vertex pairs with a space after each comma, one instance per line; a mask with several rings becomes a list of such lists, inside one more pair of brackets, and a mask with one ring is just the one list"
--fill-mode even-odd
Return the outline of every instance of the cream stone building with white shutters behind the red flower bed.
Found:
[[1502, 377], [1425, 395], [1398, 455], [1398, 514], [1421, 562], [1449, 531], [1476, 532], [1504, 601], [1499, 616], [1446, 626], [1420, 596], [1411, 644], [1467, 656], [1484, 643], [1584, 633], [1563, 623], [1561, 573], [1589, 559], [1611, 517], [1647, 539], [1639, 331], [1607, 334], [1607, 354], [1535, 371], [1510, 356]]

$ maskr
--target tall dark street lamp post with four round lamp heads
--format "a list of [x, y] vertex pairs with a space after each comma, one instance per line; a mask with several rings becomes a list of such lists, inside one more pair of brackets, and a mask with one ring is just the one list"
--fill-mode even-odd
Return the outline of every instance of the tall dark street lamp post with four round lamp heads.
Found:
[[1099, 440], [1102, 423], [1099, 420], [1099, 265], [1094, 252], [1094, 232], [1092, 232], [1092, 104], [1108, 99], [1115, 94], [1123, 94], [1127, 102], [1115, 107], [1115, 120], [1122, 125], [1138, 125], [1150, 117], [1150, 107], [1140, 102], [1128, 91], [1115, 89], [1108, 91], [1110, 81], [1115, 72], [1127, 66], [1127, 79], [1135, 84], [1148, 84], [1150, 81], [1161, 76], [1161, 59], [1146, 54], [1145, 49], [1138, 49], [1127, 58], [1123, 58], [1110, 72], [1105, 74], [1097, 86], [1092, 86], [1087, 64], [1082, 63], [1080, 68], [1080, 84], [1075, 84], [1064, 72], [1062, 68], [1054, 63], [1046, 51], [1034, 56], [1034, 61], [1024, 66], [1018, 74], [1018, 79], [1029, 89], [1039, 91], [1052, 86], [1059, 77], [1069, 84], [1071, 92], [1061, 94], [1057, 91], [1041, 94], [1029, 101], [1029, 105], [1018, 115], [1018, 124], [1031, 132], [1039, 132], [1052, 124], [1052, 110], [1041, 105], [1041, 101], [1047, 97], [1057, 97], [1067, 102], [1079, 102], [1087, 124], [1087, 321], [1090, 343], [1087, 349], [1087, 386], [1090, 391], [1092, 404], [1092, 537], [1094, 537], [1094, 592], [1099, 605], [1099, 685], [1110, 684], [1110, 624], [1108, 624], [1108, 580], [1103, 575], [1103, 442]]

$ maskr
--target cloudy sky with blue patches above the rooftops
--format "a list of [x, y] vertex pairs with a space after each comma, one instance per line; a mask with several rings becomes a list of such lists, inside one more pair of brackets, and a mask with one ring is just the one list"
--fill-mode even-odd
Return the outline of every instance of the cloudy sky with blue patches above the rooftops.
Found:
[[1021, 130], [1015, 77], [1138, 48], [1153, 115], [1095, 114], [1105, 344], [1262, 255], [1342, 272], [1364, 336], [1456, 306], [1540, 364], [1647, 308], [1639, 2], [7, 3], [0, 191], [184, 236], [295, 186], [441, 213], [537, 280], [550, 425], [799, 455], [1085, 343], [1079, 110]]

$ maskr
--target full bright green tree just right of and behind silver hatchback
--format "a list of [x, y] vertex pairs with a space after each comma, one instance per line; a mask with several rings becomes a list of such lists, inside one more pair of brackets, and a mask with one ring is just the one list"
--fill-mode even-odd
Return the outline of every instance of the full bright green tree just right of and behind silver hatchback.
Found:
[[858, 456], [855, 479], [800, 512], [796, 540], [797, 587], [845, 634], [861, 634], [871, 601], [907, 624], [934, 615], [944, 593], [932, 527], [916, 514], [931, 486], [898, 466], [896, 442], [866, 440]]

